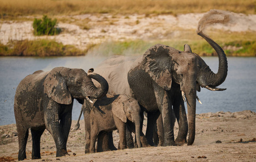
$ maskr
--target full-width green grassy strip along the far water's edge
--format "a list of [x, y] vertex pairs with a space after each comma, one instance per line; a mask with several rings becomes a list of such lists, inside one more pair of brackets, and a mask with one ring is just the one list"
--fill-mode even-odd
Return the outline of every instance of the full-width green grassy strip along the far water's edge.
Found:
[[[170, 45], [175, 49], [183, 50], [184, 44], [189, 44], [192, 51], [199, 56], [217, 56], [214, 49], [205, 40], [195, 41], [145, 41], [145, 40], [126, 40], [124, 42], [105, 42], [102, 44], [89, 46], [82, 51], [73, 45], [63, 45], [54, 40], [23, 40], [0, 44], [0, 56], [85, 56], [88, 52], [100, 53], [100, 55], [124, 55], [138, 56], [143, 55], [150, 46], [157, 43]], [[217, 42], [225, 51], [227, 56], [256, 56], [256, 41], [234, 40], [231, 42]]]

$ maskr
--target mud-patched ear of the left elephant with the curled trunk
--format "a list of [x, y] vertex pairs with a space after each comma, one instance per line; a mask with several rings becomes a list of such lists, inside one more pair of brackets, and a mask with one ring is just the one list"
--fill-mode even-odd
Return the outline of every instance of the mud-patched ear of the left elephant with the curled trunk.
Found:
[[44, 93], [59, 104], [69, 105], [72, 103], [71, 93], [68, 91], [66, 80], [61, 75], [63, 68], [51, 70], [43, 82]]

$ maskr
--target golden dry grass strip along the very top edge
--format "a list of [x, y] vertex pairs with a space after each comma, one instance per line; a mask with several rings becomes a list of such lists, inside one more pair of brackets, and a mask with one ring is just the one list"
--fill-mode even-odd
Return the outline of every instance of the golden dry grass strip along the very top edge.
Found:
[[255, 0], [0, 0], [1, 17], [26, 15], [77, 15], [86, 13], [111, 14], [187, 14], [210, 9], [255, 14]]

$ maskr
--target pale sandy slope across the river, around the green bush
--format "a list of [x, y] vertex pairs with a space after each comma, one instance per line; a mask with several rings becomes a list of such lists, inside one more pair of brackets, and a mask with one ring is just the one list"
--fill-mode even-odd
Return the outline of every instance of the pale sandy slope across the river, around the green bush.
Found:
[[[211, 28], [228, 32], [256, 31], [256, 15], [231, 15], [231, 23], [216, 24]], [[62, 29], [57, 36], [34, 36], [32, 21], [0, 20], [0, 42], [7, 44], [10, 40], [34, 40], [41, 38], [54, 39], [64, 45], [75, 45], [87, 49], [93, 44], [107, 41], [123, 40], [165, 40], [181, 37], [185, 32], [196, 33], [197, 24], [204, 14], [172, 15], [110, 15], [85, 14], [57, 17], [58, 28]], [[30, 17], [33, 19], [32, 17]], [[38, 17], [41, 18], [41, 17]], [[64, 21], [62, 21], [64, 20]], [[63, 23], [65, 22], [65, 23]]]

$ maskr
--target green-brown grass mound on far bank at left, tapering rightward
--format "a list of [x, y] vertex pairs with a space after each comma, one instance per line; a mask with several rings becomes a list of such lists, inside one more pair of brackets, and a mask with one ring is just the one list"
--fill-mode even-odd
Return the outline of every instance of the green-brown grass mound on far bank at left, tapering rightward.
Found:
[[82, 56], [85, 53], [73, 45], [48, 39], [12, 41], [7, 45], [0, 43], [0, 56]]

